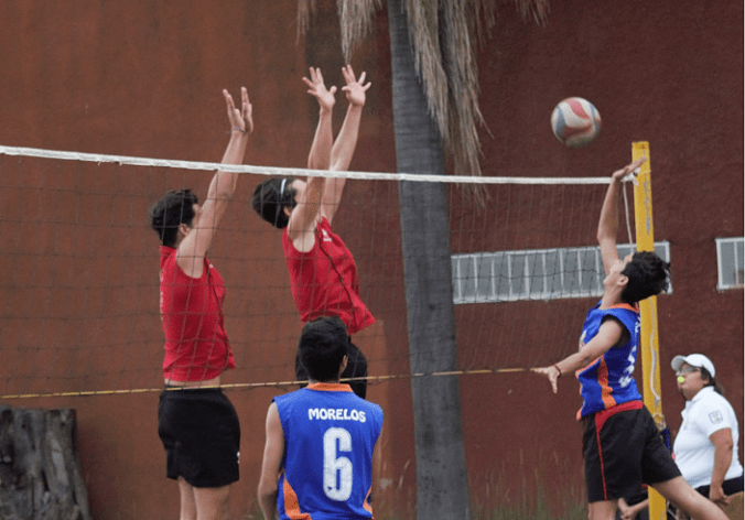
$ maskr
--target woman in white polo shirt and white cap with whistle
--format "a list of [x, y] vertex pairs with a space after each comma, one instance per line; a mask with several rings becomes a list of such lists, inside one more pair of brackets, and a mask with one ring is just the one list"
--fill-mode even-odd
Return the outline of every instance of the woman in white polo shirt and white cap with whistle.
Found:
[[673, 452], [683, 478], [720, 507], [743, 490], [743, 466], [737, 457], [737, 416], [714, 379], [714, 364], [702, 354], [676, 356], [672, 369], [685, 398], [683, 422]]

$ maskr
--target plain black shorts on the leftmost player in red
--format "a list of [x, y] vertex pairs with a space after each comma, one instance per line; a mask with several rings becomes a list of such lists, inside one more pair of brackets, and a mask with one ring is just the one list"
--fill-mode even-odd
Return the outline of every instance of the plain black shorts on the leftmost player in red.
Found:
[[233, 403], [218, 388], [163, 390], [158, 434], [166, 456], [166, 476], [197, 488], [238, 480], [240, 424]]

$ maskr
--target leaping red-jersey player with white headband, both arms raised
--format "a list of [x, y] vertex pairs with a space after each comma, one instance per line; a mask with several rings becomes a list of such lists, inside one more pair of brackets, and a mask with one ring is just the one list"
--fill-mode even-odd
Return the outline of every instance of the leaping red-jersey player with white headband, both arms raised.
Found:
[[[346, 171], [352, 162], [365, 93], [365, 73], [356, 78], [352, 66], [342, 69], [349, 106], [344, 123], [334, 141], [332, 111], [336, 87], [327, 89], [317, 68], [310, 69], [310, 79], [303, 78], [309, 94], [318, 100], [318, 126], [313, 138], [307, 167], [312, 170]], [[253, 209], [268, 223], [284, 229], [282, 246], [288, 263], [292, 296], [300, 318], [307, 323], [321, 316], [338, 316], [349, 334], [372, 325], [375, 317], [359, 297], [357, 264], [349, 249], [331, 228], [332, 220], [342, 202], [346, 178], [294, 177], [269, 178], [253, 192]], [[307, 378], [299, 360], [295, 360], [298, 379]], [[367, 360], [349, 342], [346, 378], [367, 377]], [[350, 381], [354, 392], [365, 398], [367, 382]]]

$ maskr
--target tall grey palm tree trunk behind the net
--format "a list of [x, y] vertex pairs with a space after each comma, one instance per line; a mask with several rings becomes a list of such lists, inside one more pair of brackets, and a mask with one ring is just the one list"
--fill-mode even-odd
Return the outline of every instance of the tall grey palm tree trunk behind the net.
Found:
[[[444, 173], [442, 143], [417, 77], [401, 0], [389, 0], [398, 171]], [[412, 373], [457, 368], [445, 186], [401, 182], [401, 234]], [[417, 518], [471, 517], [456, 376], [413, 377]]]

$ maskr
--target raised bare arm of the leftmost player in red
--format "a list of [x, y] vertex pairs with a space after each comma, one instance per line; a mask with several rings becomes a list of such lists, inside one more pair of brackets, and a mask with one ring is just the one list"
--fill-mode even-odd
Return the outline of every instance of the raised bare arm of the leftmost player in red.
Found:
[[[241, 87], [241, 107], [236, 108], [233, 96], [223, 90], [230, 123], [230, 141], [223, 155], [223, 164], [240, 164], [244, 161], [248, 137], [253, 131], [253, 116], [246, 87]], [[194, 219], [194, 229], [187, 232], [179, 245], [179, 267], [192, 278], [199, 278], [205, 258], [225, 208], [236, 191], [239, 173], [218, 171], [215, 173], [207, 198]], [[184, 225], [185, 226], [185, 225]]]

